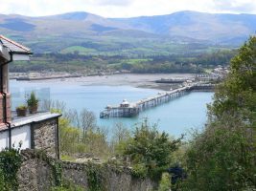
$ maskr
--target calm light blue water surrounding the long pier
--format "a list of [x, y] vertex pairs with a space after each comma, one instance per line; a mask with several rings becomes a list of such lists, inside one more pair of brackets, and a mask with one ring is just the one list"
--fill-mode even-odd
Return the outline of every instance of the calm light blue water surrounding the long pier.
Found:
[[[151, 123], [157, 123], [159, 130], [164, 130], [175, 137], [186, 133], [191, 128], [201, 128], [206, 121], [206, 104], [211, 102], [213, 93], [191, 93], [176, 98], [169, 103], [152, 108], [133, 118], [100, 118], [100, 112], [106, 105], [117, 105], [124, 98], [135, 101], [148, 96], [154, 96], [159, 91], [151, 89], [133, 88], [129, 86], [82, 86], [77, 82], [27, 82], [11, 80], [12, 93], [15, 101], [23, 101], [24, 92], [37, 90], [43, 98], [60, 100], [66, 103], [67, 108], [81, 111], [86, 108], [98, 117], [98, 124], [111, 127], [122, 122], [129, 128], [148, 117]], [[49, 89], [48, 89], [49, 88]], [[19, 93], [19, 94], [16, 94]], [[17, 99], [19, 96], [19, 99]], [[50, 97], [49, 97], [50, 96]], [[13, 103], [12, 106], [14, 107]]]

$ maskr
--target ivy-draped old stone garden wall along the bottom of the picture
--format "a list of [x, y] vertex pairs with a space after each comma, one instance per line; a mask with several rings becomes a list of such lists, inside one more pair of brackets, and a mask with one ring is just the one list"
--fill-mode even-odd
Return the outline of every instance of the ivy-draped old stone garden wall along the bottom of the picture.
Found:
[[[60, 162], [62, 180], [69, 180], [88, 190], [89, 178], [86, 171], [88, 164], [59, 161], [50, 159], [34, 150], [22, 151], [23, 163], [18, 173], [19, 190], [44, 191], [50, 190], [56, 184], [54, 162]], [[93, 164], [100, 165], [102, 164]], [[130, 170], [116, 170], [113, 166], [105, 165], [102, 177], [105, 191], [150, 191], [155, 185], [150, 179], [132, 177]]]

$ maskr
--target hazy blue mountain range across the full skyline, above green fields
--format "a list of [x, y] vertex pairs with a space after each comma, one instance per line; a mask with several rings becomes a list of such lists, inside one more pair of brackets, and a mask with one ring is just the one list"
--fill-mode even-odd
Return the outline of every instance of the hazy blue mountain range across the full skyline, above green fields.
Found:
[[24, 40], [39, 52], [61, 50], [64, 46], [79, 45], [81, 41], [101, 44], [114, 39], [115, 43], [120, 43], [127, 38], [128, 43], [133, 43], [133, 40], [141, 42], [142, 39], [162, 42], [166, 39], [176, 43], [237, 46], [255, 31], [254, 14], [178, 11], [133, 18], [104, 18], [82, 11], [42, 17], [0, 14], [0, 33]]

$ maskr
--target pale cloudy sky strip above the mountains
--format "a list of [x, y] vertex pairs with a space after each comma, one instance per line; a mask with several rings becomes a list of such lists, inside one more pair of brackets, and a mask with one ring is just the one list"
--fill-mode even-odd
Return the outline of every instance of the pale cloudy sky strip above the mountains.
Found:
[[28, 16], [87, 11], [104, 17], [170, 14], [175, 11], [254, 13], [256, 0], [0, 0], [0, 13]]

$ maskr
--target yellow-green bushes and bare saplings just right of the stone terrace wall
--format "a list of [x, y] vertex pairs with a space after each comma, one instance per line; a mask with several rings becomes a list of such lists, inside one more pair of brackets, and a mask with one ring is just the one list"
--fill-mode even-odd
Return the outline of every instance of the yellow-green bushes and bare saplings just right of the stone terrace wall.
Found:
[[[58, 112], [53, 109], [52, 111]], [[105, 129], [96, 126], [96, 117], [92, 116], [91, 112], [82, 112], [81, 117], [76, 112], [74, 114], [63, 111], [63, 116], [59, 118], [60, 152], [71, 157], [74, 154], [89, 153], [92, 156], [106, 158], [110, 153], [110, 147]]]

